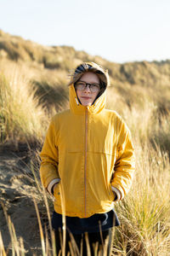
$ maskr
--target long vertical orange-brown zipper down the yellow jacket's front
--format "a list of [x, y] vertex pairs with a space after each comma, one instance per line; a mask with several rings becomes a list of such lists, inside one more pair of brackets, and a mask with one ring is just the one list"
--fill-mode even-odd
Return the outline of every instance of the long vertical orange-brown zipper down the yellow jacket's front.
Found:
[[87, 215], [87, 148], [88, 148], [88, 109], [85, 112], [85, 160], [84, 160], [84, 213]]

